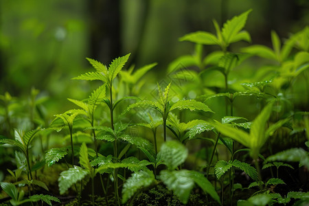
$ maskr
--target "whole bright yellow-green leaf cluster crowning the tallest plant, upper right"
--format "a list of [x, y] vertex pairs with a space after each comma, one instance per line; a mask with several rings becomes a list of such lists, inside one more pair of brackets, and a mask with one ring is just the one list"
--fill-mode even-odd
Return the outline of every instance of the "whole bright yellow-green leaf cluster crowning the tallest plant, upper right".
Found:
[[247, 12], [244, 12], [239, 16], [235, 16], [231, 20], [228, 20], [226, 23], [224, 23], [222, 30], [220, 30], [218, 23], [214, 21], [217, 36], [209, 32], [194, 32], [186, 34], [179, 40], [190, 41], [203, 45], [220, 45], [222, 50], [226, 51], [227, 47], [231, 43], [242, 40], [251, 41], [249, 33], [246, 31], [241, 31], [247, 21], [247, 16], [250, 12], [251, 10], [248, 10]]

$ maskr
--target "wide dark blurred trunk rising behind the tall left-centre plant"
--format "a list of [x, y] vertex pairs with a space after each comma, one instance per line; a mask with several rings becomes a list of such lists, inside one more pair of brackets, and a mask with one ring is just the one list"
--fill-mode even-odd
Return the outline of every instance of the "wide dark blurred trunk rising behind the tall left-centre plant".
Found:
[[109, 65], [120, 56], [120, 1], [89, 1], [90, 57]]

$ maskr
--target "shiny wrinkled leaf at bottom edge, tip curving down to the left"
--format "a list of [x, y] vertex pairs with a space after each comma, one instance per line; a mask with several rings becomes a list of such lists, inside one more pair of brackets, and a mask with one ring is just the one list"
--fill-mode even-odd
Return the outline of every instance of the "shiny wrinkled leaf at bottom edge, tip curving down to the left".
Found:
[[122, 188], [122, 204], [126, 203], [138, 190], [148, 187], [155, 181], [155, 175], [150, 170], [133, 173]]

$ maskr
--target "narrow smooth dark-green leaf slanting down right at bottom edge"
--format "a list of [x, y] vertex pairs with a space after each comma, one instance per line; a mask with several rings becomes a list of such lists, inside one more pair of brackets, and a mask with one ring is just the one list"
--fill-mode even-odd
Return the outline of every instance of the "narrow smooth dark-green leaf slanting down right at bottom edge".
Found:
[[218, 193], [216, 192], [214, 185], [212, 185], [207, 178], [201, 174], [200, 172], [196, 172], [194, 170], [189, 171], [190, 177], [194, 180], [194, 182], [202, 188], [202, 190], [209, 194], [212, 198], [214, 198], [215, 201], [217, 201], [220, 204], [220, 197], [218, 196]]

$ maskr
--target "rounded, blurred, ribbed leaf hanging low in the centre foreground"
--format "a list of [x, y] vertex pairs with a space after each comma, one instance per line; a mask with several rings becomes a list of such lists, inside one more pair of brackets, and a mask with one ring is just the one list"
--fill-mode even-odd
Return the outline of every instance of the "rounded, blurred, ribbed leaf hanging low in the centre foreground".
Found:
[[161, 158], [169, 170], [174, 170], [187, 158], [187, 148], [179, 141], [167, 141], [161, 146]]

